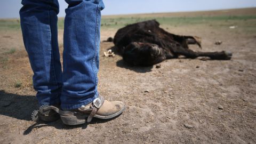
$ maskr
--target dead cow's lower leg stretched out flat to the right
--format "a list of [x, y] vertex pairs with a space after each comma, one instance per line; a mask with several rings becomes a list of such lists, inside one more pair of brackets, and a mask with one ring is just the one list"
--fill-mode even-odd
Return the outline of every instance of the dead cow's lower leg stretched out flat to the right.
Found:
[[213, 60], [229, 60], [232, 57], [231, 52], [195, 52], [189, 49], [179, 47], [179, 49], [173, 49], [173, 53], [178, 55], [184, 55], [186, 58], [195, 59], [197, 57], [209, 57]]

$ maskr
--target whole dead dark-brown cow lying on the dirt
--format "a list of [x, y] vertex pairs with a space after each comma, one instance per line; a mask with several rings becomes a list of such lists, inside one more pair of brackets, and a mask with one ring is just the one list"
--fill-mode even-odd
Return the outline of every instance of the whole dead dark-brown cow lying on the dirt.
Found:
[[117, 31], [114, 37], [117, 51], [124, 61], [131, 65], [151, 66], [165, 59], [209, 57], [214, 60], [229, 60], [232, 53], [195, 52], [188, 49], [188, 44], [201, 47], [200, 38], [170, 34], [159, 28], [156, 20], [149, 20], [127, 25]]

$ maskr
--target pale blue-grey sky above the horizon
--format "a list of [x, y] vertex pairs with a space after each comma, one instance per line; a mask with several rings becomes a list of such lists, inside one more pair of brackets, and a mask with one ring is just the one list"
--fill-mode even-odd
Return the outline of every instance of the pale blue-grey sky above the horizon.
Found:
[[[105, 0], [102, 15], [236, 9], [256, 7], [256, 0]], [[0, 18], [19, 18], [21, 0], [0, 0]], [[67, 4], [59, 0], [59, 17]]]

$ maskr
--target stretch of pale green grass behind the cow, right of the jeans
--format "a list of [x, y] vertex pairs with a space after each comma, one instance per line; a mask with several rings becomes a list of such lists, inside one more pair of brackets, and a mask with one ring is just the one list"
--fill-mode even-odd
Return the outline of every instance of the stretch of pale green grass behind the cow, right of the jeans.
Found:
[[186, 25], [215, 25], [218, 23], [240, 23], [245, 21], [250, 22], [252, 26], [256, 26], [256, 16], [219, 16], [219, 17], [161, 17], [161, 18], [102, 18], [102, 28], [121, 28], [131, 23], [156, 19], [164, 26], [186, 26]]

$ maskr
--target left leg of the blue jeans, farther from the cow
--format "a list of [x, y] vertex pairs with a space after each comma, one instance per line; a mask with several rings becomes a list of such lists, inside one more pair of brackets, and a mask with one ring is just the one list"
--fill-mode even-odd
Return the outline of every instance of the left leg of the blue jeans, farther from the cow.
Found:
[[57, 0], [22, 0], [20, 22], [23, 41], [34, 71], [39, 105], [60, 103], [62, 71], [58, 47]]

